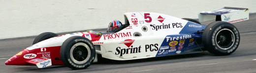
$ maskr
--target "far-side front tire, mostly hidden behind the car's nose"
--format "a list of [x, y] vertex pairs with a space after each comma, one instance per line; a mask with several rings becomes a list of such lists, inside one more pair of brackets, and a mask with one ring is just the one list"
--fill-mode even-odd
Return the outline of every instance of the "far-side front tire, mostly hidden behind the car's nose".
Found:
[[49, 39], [51, 37], [57, 37], [57, 36], [59, 36], [59, 35], [57, 35], [55, 33], [51, 33], [51, 32], [42, 33], [42, 34], [40, 34], [40, 35], [38, 35], [37, 37], [34, 38], [34, 41], [33, 41], [32, 45], [35, 44], [35, 43], [38, 43], [40, 41], [43, 41], [45, 39]]

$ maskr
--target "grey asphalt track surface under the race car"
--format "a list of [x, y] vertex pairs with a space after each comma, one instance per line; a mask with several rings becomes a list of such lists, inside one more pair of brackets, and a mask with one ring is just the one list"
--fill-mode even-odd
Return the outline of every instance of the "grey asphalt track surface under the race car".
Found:
[[238, 49], [231, 55], [216, 56], [204, 51], [128, 61], [103, 59], [84, 70], [72, 70], [65, 66], [44, 69], [36, 66], [6, 66], [4, 62], [32, 45], [35, 37], [1, 39], [0, 73], [256, 73], [256, 14], [251, 14], [247, 21], [233, 24], [240, 32], [241, 40]]

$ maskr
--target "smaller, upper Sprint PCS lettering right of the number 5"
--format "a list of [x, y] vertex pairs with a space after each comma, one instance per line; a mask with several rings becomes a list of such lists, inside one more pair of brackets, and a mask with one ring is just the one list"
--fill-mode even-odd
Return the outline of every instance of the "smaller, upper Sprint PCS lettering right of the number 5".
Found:
[[170, 28], [182, 28], [182, 23], [172, 23], [172, 24], [163, 24], [162, 25], [156, 25], [156, 24], [151, 24], [150, 25], [152, 28], [152, 30], [160, 30], [160, 29], [170, 29]]

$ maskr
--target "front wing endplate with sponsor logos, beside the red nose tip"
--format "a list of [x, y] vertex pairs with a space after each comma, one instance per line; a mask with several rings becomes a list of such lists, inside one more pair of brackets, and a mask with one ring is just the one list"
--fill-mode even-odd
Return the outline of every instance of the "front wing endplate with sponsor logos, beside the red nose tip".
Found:
[[31, 63], [31, 64], [35, 64], [38, 68], [44, 68], [44, 67], [52, 65], [52, 60], [51, 59], [42, 58], [42, 57], [27, 60], [26, 62]]

